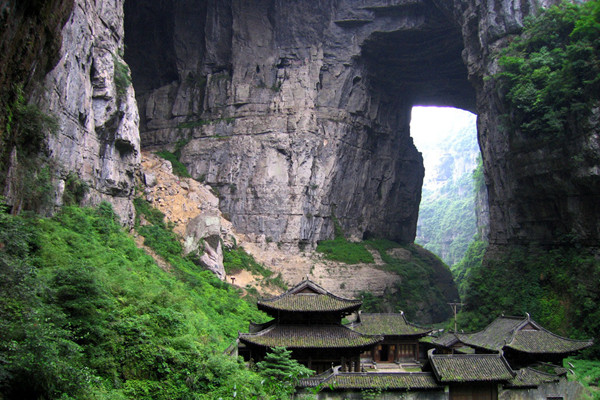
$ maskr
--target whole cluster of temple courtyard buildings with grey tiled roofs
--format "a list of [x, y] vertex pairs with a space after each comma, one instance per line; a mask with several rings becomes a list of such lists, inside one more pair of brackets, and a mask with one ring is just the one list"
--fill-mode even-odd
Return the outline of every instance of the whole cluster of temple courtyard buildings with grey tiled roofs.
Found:
[[[565, 357], [593, 340], [544, 329], [529, 315], [500, 316], [475, 333], [445, 333], [403, 313], [361, 313], [360, 300], [336, 296], [310, 280], [258, 301], [272, 319], [238, 336], [238, 354], [261, 361], [274, 347], [315, 371], [296, 398], [361, 399], [364, 391], [405, 400], [575, 399], [583, 386], [567, 379]], [[344, 325], [344, 317], [353, 322]], [[391, 396], [391, 397], [390, 397]]]

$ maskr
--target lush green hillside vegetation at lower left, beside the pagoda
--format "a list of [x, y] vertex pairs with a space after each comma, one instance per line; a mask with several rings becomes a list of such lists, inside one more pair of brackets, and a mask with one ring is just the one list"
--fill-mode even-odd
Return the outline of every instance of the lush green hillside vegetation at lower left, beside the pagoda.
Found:
[[0, 211], [3, 398], [272, 398], [223, 355], [265, 318], [229, 285], [173, 251], [161, 270], [107, 203]]

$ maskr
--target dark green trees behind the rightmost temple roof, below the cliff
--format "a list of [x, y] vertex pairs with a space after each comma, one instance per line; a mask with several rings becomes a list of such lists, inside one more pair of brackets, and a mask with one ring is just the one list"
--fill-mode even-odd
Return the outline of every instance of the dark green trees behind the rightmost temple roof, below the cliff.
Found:
[[[600, 331], [599, 280], [600, 260], [576, 246], [512, 246], [508, 255], [471, 266], [460, 326], [479, 329], [502, 311], [529, 312], [553, 332], [594, 337]], [[590, 355], [600, 355], [597, 344]]]

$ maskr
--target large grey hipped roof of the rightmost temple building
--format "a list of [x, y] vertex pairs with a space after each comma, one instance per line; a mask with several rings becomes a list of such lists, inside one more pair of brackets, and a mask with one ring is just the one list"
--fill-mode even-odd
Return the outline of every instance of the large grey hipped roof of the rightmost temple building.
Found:
[[525, 353], [570, 353], [589, 347], [592, 340], [572, 340], [551, 333], [527, 317], [501, 316], [484, 330], [457, 334], [468, 346], [499, 351], [505, 346]]

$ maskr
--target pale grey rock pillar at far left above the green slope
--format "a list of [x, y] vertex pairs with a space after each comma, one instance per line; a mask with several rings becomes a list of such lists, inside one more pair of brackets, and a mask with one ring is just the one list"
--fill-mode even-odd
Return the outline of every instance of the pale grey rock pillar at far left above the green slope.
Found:
[[[18, 16], [21, 8], [33, 20], [44, 15], [51, 21], [56, 15], [65, 16], [61, 24], [51, 25], [54, 41], [47, 42], [54, 46], [42, 47], [39, 54], [43, 58], [21, 65], [29, 71], [15, 72], [35, 78], [37, 61], [52, 60], [47, 61], [49, 71], [41, 82], [24, 82], [29, 101], [55, 117], [59, 125], [57, 133], [46, 138], [42, 151], [54, 188], [49, 203], [60, 206], [69, 177], [77, 177], [89, 188], [81, 199], [83, 204], [108, 200], [122, 221], [131, 223], [134, 174], [140, 163], [139, 117], [129, 70], [122, 59], [123, 1], [25, 1], [12, 8], [3, 6], [2, 12], [9, 13], [9, 20]], [[11, 32], [4, 32], [3, 41]], [[10, 164], [8, 177], [14, 176], [19, 163], [23, 160]], [[5, 193], [18, 196], [14, 185], [9, 179]], [[11, 203], [10, 196], [7, 201]]]

